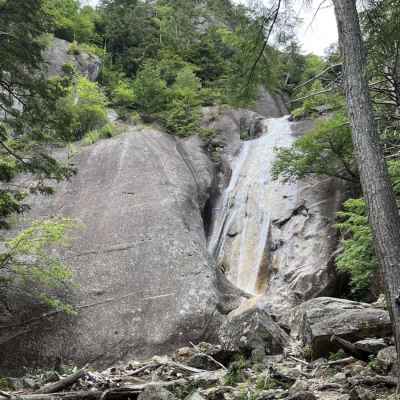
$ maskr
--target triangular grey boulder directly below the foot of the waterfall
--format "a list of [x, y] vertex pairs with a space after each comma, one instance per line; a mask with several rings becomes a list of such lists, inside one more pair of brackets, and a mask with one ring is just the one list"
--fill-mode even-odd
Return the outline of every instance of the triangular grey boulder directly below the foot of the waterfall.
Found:
[[289, 336], [259, 308], [256, 299], [247, 300], [241, 307], [228, 314], [219, 330], [222, 347], [251, 355], [280, 354], [289, 345]]

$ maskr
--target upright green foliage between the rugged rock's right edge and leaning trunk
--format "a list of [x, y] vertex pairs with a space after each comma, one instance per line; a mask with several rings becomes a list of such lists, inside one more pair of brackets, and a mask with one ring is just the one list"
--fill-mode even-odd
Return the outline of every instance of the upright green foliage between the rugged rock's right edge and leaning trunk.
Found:
[[350, 274], [353, 293], [362, 297], [368, 292], [378, 268], [365, 201], [347, 200], [338, 217], [340, 222], [336, 227], [344, 239], [341, 242], [343, 250], [336, 257], [336, 265], [340, 271]]

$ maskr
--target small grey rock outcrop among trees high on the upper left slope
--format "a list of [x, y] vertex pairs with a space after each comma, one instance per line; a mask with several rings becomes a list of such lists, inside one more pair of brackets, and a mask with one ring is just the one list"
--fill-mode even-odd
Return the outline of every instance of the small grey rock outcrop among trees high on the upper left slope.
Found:
[[70, 45], [71, 43], [65, 40], [58, 38], [53, 39], [51, 45], [44, 53], [48, 76], [54, 77], [63, 75], [63, 66], [65, 64], [71, 64], [80, 74], [86, 76], [91, 81], [95, 81], [101, 69], [99, 57], [85, 52], [72, 54], [69, 51]]

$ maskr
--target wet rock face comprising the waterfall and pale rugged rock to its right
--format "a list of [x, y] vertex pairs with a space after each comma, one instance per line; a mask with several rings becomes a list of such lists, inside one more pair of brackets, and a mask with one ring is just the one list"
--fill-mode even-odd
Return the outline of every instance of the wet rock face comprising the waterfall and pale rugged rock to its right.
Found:
[[[331, 258], [337, 246], [332, 225], [343, 187], [333, 179], [274, 181], [274, 148], [290, 146], [312, 125], [259, 118], [258, 138], [223, 147], [223, 174], [229, 178], [213, 205], [208, 247], [234, 285], [262, 296], [265, 308], [280, 314], [332, 294]], [[231, 114], [221, 121], [235, 126]]]

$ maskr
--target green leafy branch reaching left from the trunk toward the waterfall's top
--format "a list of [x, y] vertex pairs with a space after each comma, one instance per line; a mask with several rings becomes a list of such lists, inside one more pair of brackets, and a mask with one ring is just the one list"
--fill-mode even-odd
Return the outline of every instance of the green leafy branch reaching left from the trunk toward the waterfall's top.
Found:
[[273, 176], [291, 179], [327, 175], [358, 182], [347, 118], [335, 114], [316, 122], [315, 128], [297, 139], [290, 148], [279, 148]]

